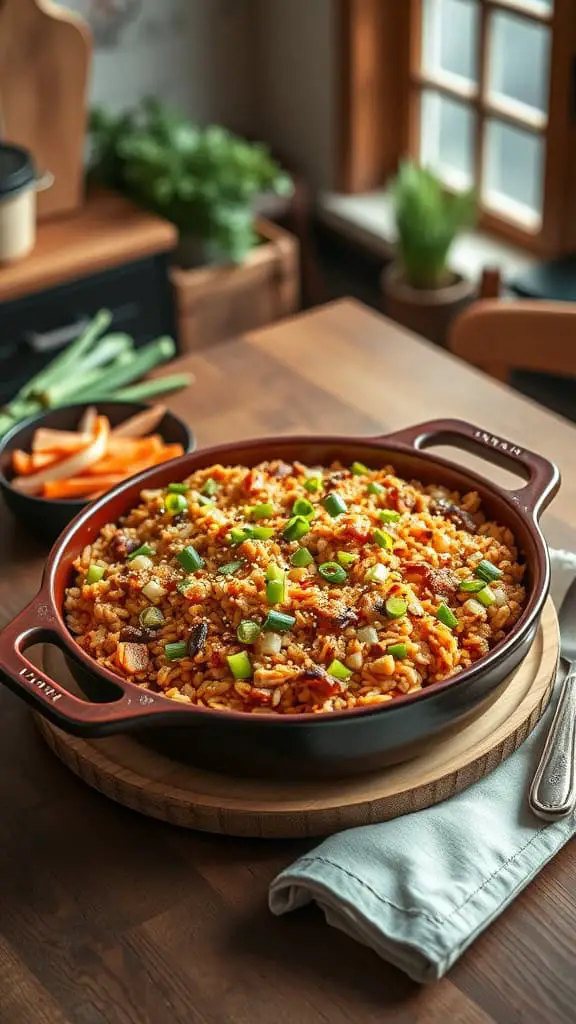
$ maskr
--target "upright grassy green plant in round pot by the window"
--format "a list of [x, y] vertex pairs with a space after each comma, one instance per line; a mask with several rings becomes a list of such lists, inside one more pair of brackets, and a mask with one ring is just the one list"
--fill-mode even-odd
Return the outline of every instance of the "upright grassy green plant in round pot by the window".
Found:
[[409, 161], [400, 167], [392, 198], [406, 283], [418, 289], [450, 284], [450, 249], [476, 220], [475, 191], [449, 193], [430, 170]]

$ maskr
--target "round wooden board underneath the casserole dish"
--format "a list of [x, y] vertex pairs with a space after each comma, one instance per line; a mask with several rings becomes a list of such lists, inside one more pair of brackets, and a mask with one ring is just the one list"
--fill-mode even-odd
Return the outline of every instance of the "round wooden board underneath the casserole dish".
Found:
[[[141, 814], [228, 836], [327, 836], [429, 807], [493, 771], [542, 716], [558, 656], [558, 618], [548, 600], [529, 654], [479, 709], [414, 760], [352, 779], [279, 782], [218, 775], [170, 761], [129, 736], [80, 739], [35, 717], [64, 764]], [[44, 667], [75, 689], [55, 648], [45, 648]]]

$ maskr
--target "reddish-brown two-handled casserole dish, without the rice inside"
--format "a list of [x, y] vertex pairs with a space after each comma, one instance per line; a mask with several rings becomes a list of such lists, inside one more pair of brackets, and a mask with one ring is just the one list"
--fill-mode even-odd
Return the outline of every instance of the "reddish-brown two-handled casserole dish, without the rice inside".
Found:
[[[516, 490], [426, 453], [453, 445], [522, 476]], [[182, 705], [142, 691], [97, 665], [75, 642], [63, 616], [73, 562], [108, 522], [138, 501], [142, 487], [167, 486], [215, 462], [253, 466], [266, 459], [328, 465], [362, 460], [393, 463], [407, 479], [476, 489], [488, 514], [513, 532], [527, 564], [526, 606], [511, 632], [469, 669], [387, 705], [328, 715], [246, 715]], [[458, 420], [419, 424], [376, 438], [278, 437], [206, 449], [147, 470], [93, 502], [56, 542], [38, 596], [0, 636], [0, 677], [51, 722], [84, 736], [137, 731], [138, 739], [167, 755], [235, 774], [304, 775], [368, 771], [413, 756], [418, 745], [453, 725], [486, 697], [528, 652], [549, 588], [549, 559], [538, 520], [560, 485], [557, 467], [478, 427]], [[82, 691], [83, 700], [63, 689], [26, 657], [32, 644], [55, 643]]]

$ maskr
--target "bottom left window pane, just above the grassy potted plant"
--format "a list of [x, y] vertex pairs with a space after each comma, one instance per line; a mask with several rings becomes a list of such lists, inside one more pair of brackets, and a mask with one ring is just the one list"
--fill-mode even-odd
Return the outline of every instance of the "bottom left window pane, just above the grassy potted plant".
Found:
[[474, 130], [471, 108], [431, 89], [422, 91], [420, 160], [455, 188], [472, 183]]

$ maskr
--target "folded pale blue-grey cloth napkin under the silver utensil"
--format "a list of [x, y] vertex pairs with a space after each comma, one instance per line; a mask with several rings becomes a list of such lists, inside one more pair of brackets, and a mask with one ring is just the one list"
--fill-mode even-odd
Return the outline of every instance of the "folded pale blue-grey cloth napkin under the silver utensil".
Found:
[[[551, 557], [558, 607], [576, 557]], [[415, 981], [441, 978], [576, 830], [574, 817], [545, 824], [527, 803], [557, 698], [558, 687], [526, 742], [469, 790], [300, 857], [272, 883], [272, 912], [315, 901], [329, 925]]]

